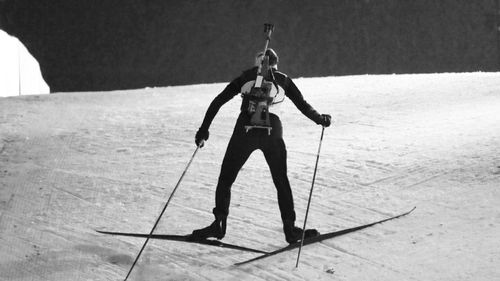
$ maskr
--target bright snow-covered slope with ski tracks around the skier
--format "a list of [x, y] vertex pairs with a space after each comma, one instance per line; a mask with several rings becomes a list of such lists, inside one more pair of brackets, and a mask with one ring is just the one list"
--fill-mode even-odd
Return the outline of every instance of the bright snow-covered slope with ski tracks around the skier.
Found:
[[[308, 226], [409, 216], [248, 265], [256, 254], [151, 240], [130, 280], [500, 280], [500, 73], [296, 79], [325, 131]], [[0, 99], [0, 280], [123, 280], [224, 84]], [[213, 219], [240, 98], [214, 120], [156, 233]], [[282, 115], [298, 225], [321, 127]], [[256, 152], [233, 186], [225, 242], [286, 244]]]

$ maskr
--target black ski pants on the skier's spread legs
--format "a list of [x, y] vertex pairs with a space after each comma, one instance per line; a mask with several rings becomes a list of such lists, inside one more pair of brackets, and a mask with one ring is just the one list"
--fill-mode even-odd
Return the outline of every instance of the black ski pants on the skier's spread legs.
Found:
[[252, 129], [246, 134], [237, 133], [237, 130], [235, 130], [235, 134], [233, 134], [229, 141], [215, 192], [215, 208], [213, 209], [213, 213], [216, 218], [226, 218], [228, 216], [231, 186], [252, 152], [260, 149], [264, 153], [266, 162], [271, 170], [272, 179], [278, 193], [281, 219], [283, 222], [293, 223], [295, 222], [295, 210], [292, 190], [287, 176], [285, 142], [281, 136], [268, 136], [267, 132], [265, 134], [261, 132], [253, 135], [253, 130], [265, 131], [262, 129]]

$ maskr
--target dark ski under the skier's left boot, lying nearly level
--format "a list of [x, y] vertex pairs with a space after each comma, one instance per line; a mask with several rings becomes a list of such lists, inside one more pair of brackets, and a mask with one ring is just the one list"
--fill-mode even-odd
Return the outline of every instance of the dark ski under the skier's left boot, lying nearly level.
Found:
[[[101, 231], [101, 230], [96, 230], [96, 231], [101, 233], [101, 234], [109, 234], [109, 235], [140, 237], [140, 238], [148, 238], [149, 237], [149, 234], [146, 234], [146, 233], [112, 232], [112, 231]], [[243, 247], [243, 246], [239, 246], [239, 245], [234, 245], [234, 244], [229, 244], [229, 243], [224, 243], [224, 242], [218, 241], [218, 240], [209, 240], [209, 239], [190, 240], [189, 237], [190, 237], [190, 235], [153, 234], [150, 236], [150, 239], [161, 239], [161, 240], [179, 241], [179, 242], [187, 242], [187, 243], [196, 243], [196, 244], [216, 246], [216, 247], [221, 247], [221, 248], [228, 248], [228, 249], [258, 253], [258, 254], [266, 254], [267, 253], [265, 251], [252, 249], [252, 248], [248, 248], [248, 247]]]

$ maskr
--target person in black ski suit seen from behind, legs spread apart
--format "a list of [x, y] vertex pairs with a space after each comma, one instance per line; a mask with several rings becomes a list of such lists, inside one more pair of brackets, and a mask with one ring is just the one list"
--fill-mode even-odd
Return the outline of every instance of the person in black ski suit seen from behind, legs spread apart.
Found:
[[[277, 71], [278, 55], [272, 49], [267, 49], [265, 56], [269, 60], [269, 71], [273, 77], [274, 103], [283, 101], [284, 96], [292, 100], [295, 106], [309, 119], [324, 127], [330, 126], [331, 116], [319, 114], [303, 98], [299, 89], [293, 81], [284, 73]], [[263, 54], [256, 58], [256, 65], [260, 64]], [[266, 58], [267, 59], [267, 58]], [[244, 71], [239, 77], [231, 81], [229, 85], [212, 101], [203, 119], [203, 123], [196, 133], [195, 143], [202, 147], [204, 141], [208, 140], [208, 129], [215, 115], [222, 105], [231, 100], [238, 93], [248, 93], [255, 84], [258, 66]], [[275, 87], [276, 88], [276, 87]], [[279, 89], [281, 88], [281, 89]], [[280, 97], [281, 95], [281, 97]], [[198, 230], [194, 230], [191, 239], [201, 240], [208, 237], [222, 239], [226, 233], [226, 218], [229, 214], [229, 202], [231, 199], [231, 186], [238, 175], [243, 164], [250, 154], [260, 149], [264, 153], [267, 164], [271, 170], [272, 179], [278, 193], [278, 205], [283, 221], [283, 232], [288, 243], [294, 243], [302, 239], [302, 229], [295, 226], [295, 211], [293, 205], [292, 190], [287, 176], [286, 147], [283, 141], [283, 131], [279, 117], [269, 113], [270, 131], [261, 128], [247, 130], [245, 126], [250, 123], [250, 116], [246, 109], [248, 98], [243, 98], [241, 113], [236, 121], [233, 135], [229, 141], [222, 167], [219, 181], [215, 192], [215, 208], [213, 213], [215, 221]], [[269, 112], [272, 111], [272, 106]], [[314, 229], [306, 231], [306, 237], [318, 235]]]

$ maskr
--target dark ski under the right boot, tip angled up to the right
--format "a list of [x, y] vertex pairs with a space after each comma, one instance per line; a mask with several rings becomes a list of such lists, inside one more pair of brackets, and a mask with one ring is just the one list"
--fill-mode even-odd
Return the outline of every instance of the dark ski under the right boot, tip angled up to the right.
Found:
[[[360, 226], [356, 226], [356, 227], [352, 227], [352, 228], [347, 228], [347, 229], [343, 229], [343, 230], [329, 232], [329, 233], [321, 234], [319, 236], [311, 237], [309, 239], [305, 239], [304, 243], [303, 243], [303, 246], [309, 245], [309, 244], [313, 244], [313, 243], [317, 243], [317, 242], [321, 242], [321, 241], [326, 240], [326, 239], [330, 239], [330, 238], [333, 238], [333, 237], [341, 236], [341, 235], [344, 235], [344, 234], [347, 234], [347, 233], [351, 233], [351, 232], [354, 232], [354, 231], [358, 231], [358, 230], [361, 230], [361, 229], [364, 229], [364, 228], [367, 228], [367, 227], [370, 227], [370, 226], [374, 226], [374, 225], [379, 224], [379, 223], [383, 223], [383, 222], [386, 222], [386, 221], [390, 221], [390, 220], [393, 220], [393, 219], [397, 219], [397, 218], [406, 216], [406, 215], [410, 214], [411, 212], [413, 212], [413, 210], [415, 210], [415, 208], [416, 207], [413, 207], [413, 209], [411, 209], [408, 212], [405, 212], [405, 213], [402, 213], [402, 214], [399, 214], [399, 215], [396, 215], [396, 216], [393, 216], [393, 217], [390, 217], [390, 218], [387, 218], [387, 219], [379, 220], [379, 221], [376, 221], [376, 222], [372, 222], [372, 223], [368, 223], [368, 224], [364, 224], [364, 225], [360, 225]], [[264, 253], [264, 254], [262, 254], [262, 255], [260, 255], [258, 257], [255, 257], [255, 258], [252, 258], [252, 259], [249, 259], [249, 260], [246, 260], [246, 261], [235, 263], [234, 265], [239, 266], [239, 265], [247, 264], [247, 263], [250, 263], [250, 262], [253, 262], [253, 261], [256, 261], [256, 260], [260, 260], [260, 259], [263, 259], [263, 258], [274, 256], [274, 255], [277, 255], [279, 253], [283, 253], [283, 252], [286, 252], [286, 251], [289, 251], [289, 250], [292, 250], [292, 249], [295, 249], [295, 248], [298, 248], [298, 247], [300, 247], [300, 241], [299, 242], [295, 242], [293, 244], [290, 244], [290, 245], [288, 245], [286, 247], [283, 247], [281, 249], [278, 249], [278, 250], [275, 250], [275, 251], [272, 251], [272, 252]]]

